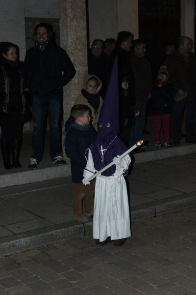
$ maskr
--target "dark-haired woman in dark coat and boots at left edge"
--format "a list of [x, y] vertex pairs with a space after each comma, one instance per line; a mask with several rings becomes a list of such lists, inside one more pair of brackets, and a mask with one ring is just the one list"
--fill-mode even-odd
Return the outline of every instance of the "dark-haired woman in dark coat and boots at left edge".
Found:
[[19, 48], [10, 42], [0, 43], [0, 147], [5, 169], [20, 168], [19, 155], [26, 119], [22, 62]]

